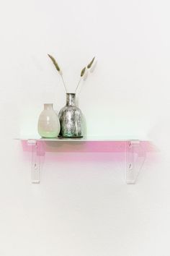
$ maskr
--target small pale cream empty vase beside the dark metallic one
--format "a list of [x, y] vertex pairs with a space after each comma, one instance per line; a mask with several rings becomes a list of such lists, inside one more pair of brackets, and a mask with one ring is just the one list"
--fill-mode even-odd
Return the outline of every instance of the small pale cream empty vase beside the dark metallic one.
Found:
[[44, 110], [41, 112], [37, 130], [41, 137], [57, 137], [61, 129], [58, 115], [53, 110], [53, 104], [44, 104]]

